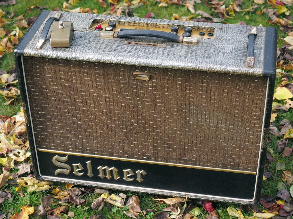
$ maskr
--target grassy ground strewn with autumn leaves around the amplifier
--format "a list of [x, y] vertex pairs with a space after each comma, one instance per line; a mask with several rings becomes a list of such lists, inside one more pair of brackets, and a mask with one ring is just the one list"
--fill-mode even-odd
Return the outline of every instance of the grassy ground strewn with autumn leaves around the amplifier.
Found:
[[[292, 0], [2, 0], [0, 6], [0, 219], [293, 218]], [[278, 69], [260, 204], [248, 207], [36, 180], [12, 52], [43, 9], [276, 27]]]

